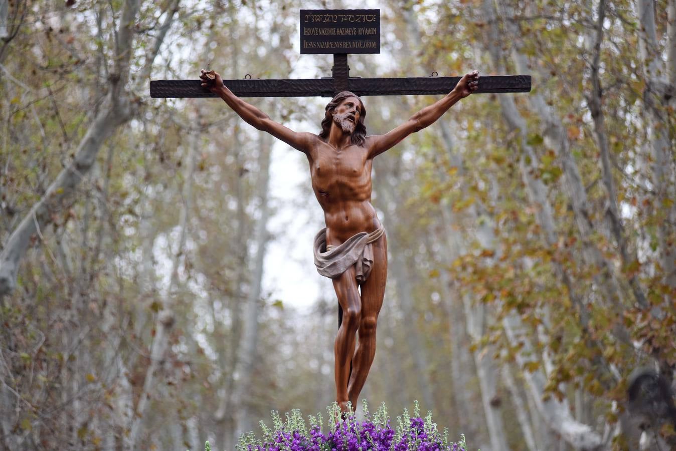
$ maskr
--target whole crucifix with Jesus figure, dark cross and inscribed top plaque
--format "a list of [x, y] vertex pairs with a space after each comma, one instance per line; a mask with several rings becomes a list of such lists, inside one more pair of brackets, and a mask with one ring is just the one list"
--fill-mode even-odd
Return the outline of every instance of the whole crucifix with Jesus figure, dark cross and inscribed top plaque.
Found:
[[[333, 77], [319, 80], [200, 80], [151, 82], [152, 97], [220, 97], [245, 122], [301, 151], [326, 228], [314, 238], [314, 263], [330, 277], [339, 303], [335, 340], [336, 400], [357, 405], [375, 356], [376, 325], [387, 279], [387, 238], [371, 205], [373, 159], [406, 136], [433, 124], [473, 92], [528, 92], [530, 76], [351, 78], [347, 53], [378, 53], [379, 10], [301, 10], [301, 53], [334, 53]], [[366, 134], [364, 95], [438, 94], [445, 97], [386, 134]], [[240, 97], [333, 97], [321, 131], [295, 132]], [[358, 336], [358, 340], [356, 337]]]

